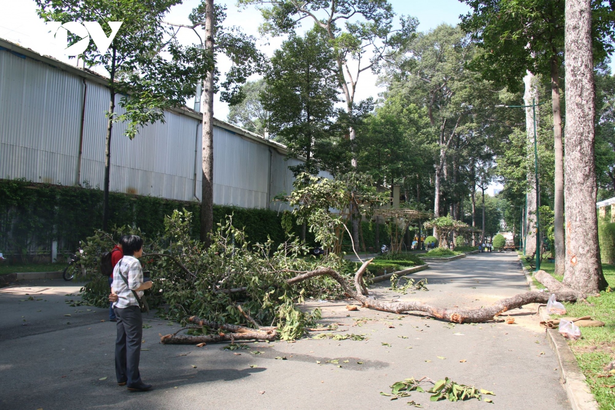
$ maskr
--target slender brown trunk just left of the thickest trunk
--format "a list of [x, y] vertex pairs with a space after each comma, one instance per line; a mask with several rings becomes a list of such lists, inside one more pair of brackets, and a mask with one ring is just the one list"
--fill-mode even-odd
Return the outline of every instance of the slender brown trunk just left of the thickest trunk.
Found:
[[553, 103], [553, 139], [555, 149], [555, 275], [563, 275], [566, 264], [564, 241], [564, 147], [561, 141], [560, 64], [557, 55], [551, 60], [551, 100]]

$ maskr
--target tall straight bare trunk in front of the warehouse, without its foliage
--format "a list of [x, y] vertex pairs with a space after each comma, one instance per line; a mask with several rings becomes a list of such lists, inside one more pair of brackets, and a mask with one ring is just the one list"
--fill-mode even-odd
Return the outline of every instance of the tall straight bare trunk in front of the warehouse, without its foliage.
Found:
[[[213, 55], [213, 0], [205, 0], [205, 49]], [[203, 87], [203, 152], [200, 203], [200, 240], [210, 245], [213, 229], [213, 69]]]

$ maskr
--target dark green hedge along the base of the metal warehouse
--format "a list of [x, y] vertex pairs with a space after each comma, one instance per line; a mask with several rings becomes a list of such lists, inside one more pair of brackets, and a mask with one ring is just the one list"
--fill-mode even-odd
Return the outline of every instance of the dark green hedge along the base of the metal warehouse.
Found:
[[[102, 203], [100, 189], [0, 179], [0, 251], [25, 252], [33, 244], [47, 249], [52, 240], [65, 249], [76, 249], [79, 240], [101, 228]], [[156, 235], [164, 231], [164, 217], [182, 208], [192, 212], [197, 237], [200, 203], [120, 192], [109, 194], [109, 226], [134, 225], [146, 235]], [[284, 242], [282, 213], [214, 205], [214, 224], [231, 213], [234, 226], [244, 227], [250, 242], [265, 242], [268, 235], [276, 243]]]

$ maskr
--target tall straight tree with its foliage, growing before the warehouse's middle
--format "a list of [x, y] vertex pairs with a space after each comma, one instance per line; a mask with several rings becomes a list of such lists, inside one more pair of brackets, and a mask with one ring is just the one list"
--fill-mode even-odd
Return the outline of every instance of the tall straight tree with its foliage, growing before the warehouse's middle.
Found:
[[[213, 95], [220, 89], [221, 100], [231, 106], [240, 103], [245, 97], [241, 84], [264, 65], [264, 57], [256, 49], [255, 38], [242, 33], [236, 26], [224, 25], [225, 10], [224, 6], [214, 5], [213, 0], [201, 0], [189, 15], [192, 25], [167, 23], [194, 31], [199, 37], [197, 47], [214, 59], [218, 55], [226, 55], [233, 63], [220, 84], [221, 73], [215, 64], [207, 66], [207, 76], [202, 83], [199, 80], [199, 85], [202, 84], [200, 98], [203, 109], [200, 240], [206, 244], [210, 243], [208, 235], [213, 230]], [[199, 66], [201, 62], [194, 60], [193, 63]]]

